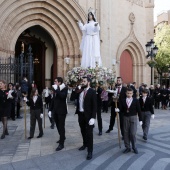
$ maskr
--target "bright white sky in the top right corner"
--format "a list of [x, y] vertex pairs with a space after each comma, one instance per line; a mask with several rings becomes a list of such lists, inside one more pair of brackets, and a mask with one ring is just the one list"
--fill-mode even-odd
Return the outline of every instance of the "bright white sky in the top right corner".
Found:
[[155, 0], [154, 21], [156, 21], [157, 15], [164, 10], [170, 10], [170, 0]]

